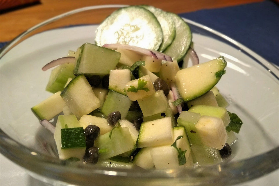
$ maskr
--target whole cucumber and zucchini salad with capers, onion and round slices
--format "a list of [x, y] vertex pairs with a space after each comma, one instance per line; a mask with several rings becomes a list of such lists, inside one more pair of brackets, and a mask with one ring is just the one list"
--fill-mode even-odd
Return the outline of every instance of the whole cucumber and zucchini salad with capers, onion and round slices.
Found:
[[42, 68], [55, 67], [46, 86], [53, 95], [31, 110], [53, 133], [60, 159], [164, 169], [232, 157], [242, 121], [215, 86], [226, 60], [200, 64], [183, 19], [152, 6], [120, 8], [95, 42]]

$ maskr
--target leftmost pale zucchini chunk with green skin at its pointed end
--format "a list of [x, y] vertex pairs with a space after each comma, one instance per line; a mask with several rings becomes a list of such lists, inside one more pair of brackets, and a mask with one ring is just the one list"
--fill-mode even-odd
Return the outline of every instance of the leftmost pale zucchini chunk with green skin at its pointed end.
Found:
[[32, 107], [31, 110], [39, 119], [51, 120], [62, 112], [66, 106], [65, 101], [60, 97], [61, 92], [56, 92], [46, 100]]

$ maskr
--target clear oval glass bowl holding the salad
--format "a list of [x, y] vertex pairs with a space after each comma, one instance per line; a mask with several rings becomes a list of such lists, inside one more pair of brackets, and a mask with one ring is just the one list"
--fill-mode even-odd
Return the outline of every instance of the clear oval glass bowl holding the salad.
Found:
[[[206, 26], [185, 19], [201, 62], [224, 56], [226, 74], [217, 87], [228, 110], [244, 122], [229, 162], [197, 169], [114, 169], [59, 160], [52, 134], [31, 107], [44, 91], [47, 62], [64, 57], [124, 5], [91, 6], [53, 17], [1, 49], [1, 153], [47, 183], [76, 185], [233, 185], [278, 169], [278, 69], [253, 51]], [[56, 119], [53, 120], [55, 123]]]

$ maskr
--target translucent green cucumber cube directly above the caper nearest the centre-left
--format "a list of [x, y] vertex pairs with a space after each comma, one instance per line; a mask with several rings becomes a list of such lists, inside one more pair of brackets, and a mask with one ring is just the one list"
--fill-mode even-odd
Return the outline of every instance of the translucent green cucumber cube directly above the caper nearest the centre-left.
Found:
[[109, 91], [101, 112], [108, 115], [110, 112], [119, 111], [121, 119], [125, 119], [132, 101], [125, 95]]

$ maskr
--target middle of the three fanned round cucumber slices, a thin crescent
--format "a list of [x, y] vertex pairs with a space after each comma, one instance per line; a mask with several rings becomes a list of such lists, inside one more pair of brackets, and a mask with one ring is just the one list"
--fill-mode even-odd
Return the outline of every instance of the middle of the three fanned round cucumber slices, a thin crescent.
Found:
[[158, 51], [162, 52], [164, 51], [174, 40], [175, 37], [175, 25], [173, 20], [171, 19], [171, 16], [169, 15], [169, 12], [165, 12], [159, 8], [155, 8], [153, 6], [148, 5], [142, 5], [143, 8], [146, 8], [150, 12], [152, 12], [155, 17], [158, 19], [162, 31], [163, 31], [163, 41], [158, 49]]

